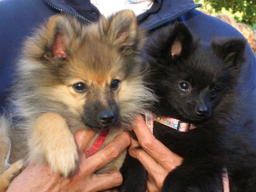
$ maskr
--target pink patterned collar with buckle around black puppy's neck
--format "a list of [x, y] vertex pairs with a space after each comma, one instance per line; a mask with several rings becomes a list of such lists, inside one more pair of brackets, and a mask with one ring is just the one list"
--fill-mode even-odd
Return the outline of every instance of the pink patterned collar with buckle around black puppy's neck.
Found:
[[196, 128], [193, 124], [182, 122], [179, 119], [156, 116], [155, 114], [152, 114], [152, 112], [149, 110], [145, 112], [145, 120], [147, 127], [150, 129], [151, 132], [153, 132], [154, 121], [162, 123], [165, 126], [174, 128], [175, 130], [180, 132], [187, 132], [189, 130], [193, 130], [194, 128]]

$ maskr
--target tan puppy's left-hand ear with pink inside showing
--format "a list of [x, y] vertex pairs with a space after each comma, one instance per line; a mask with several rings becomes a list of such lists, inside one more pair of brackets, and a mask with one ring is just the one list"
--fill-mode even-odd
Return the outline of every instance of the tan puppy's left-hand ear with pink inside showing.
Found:
[[75, 30], [79, 30], [79, 26], [81, 24], [74, 18], [65, 15], [52, 16], [36, 31], [35, 36], [29, 37], [25, 42], [24, 55], [49, 65], [56, 58], [67, 58]]

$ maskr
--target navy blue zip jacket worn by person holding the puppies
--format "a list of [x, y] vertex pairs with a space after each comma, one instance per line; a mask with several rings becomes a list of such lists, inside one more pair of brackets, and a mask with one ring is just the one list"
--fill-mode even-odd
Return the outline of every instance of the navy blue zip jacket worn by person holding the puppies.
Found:
[[[146, 13], [138, 16], [140, 26], [150, 32], [164, 24], [179, 20], [193, 34], [209, 43], [213, 37], [242, 37], [240, 32], [217, 18], [196, 10], [191, 0], [158, 0]], [[107, 9], [107, 7], [106, 7]], [[2, 0], [0, 1], [0, 113], [7, 108], [6, 98], [14, 74], [14, 64], [26, 36], [46, 19], [63, 12], [80, 18], [85, 24], [98, 19], [100, 12], [87, 0]], [[256, 60], [249, 45], [246, 45], [246, 66], [243, 69], [238, 94], [240, 102], [247, 103], [240, 122], [246, 128], [256, 129]], [[249, 123], [249, 119], [254, 121]]]

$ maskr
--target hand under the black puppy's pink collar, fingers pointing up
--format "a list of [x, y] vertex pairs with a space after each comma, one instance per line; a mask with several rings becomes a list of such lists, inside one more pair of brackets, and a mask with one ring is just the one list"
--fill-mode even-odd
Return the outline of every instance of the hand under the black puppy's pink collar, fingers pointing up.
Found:
[[138, 141], [131, 139], [129, 153], [141, 161], [147, 170], [147, 191], [160, 191], [168, 173], [181, 165], [183, 158], [171, 152], [152, 135], [142, 116], [135, 120], [133, 131]]

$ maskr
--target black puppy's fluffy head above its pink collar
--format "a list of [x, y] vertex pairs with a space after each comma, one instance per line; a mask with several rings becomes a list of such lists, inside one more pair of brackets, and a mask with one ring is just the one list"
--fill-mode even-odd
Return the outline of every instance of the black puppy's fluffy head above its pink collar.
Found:
[[204, 44], [181, 23], [158, 31], [146, 52], [159, 114], [188, 122], [227, 114], [244, 49], [245, 41], [238, 38]]

